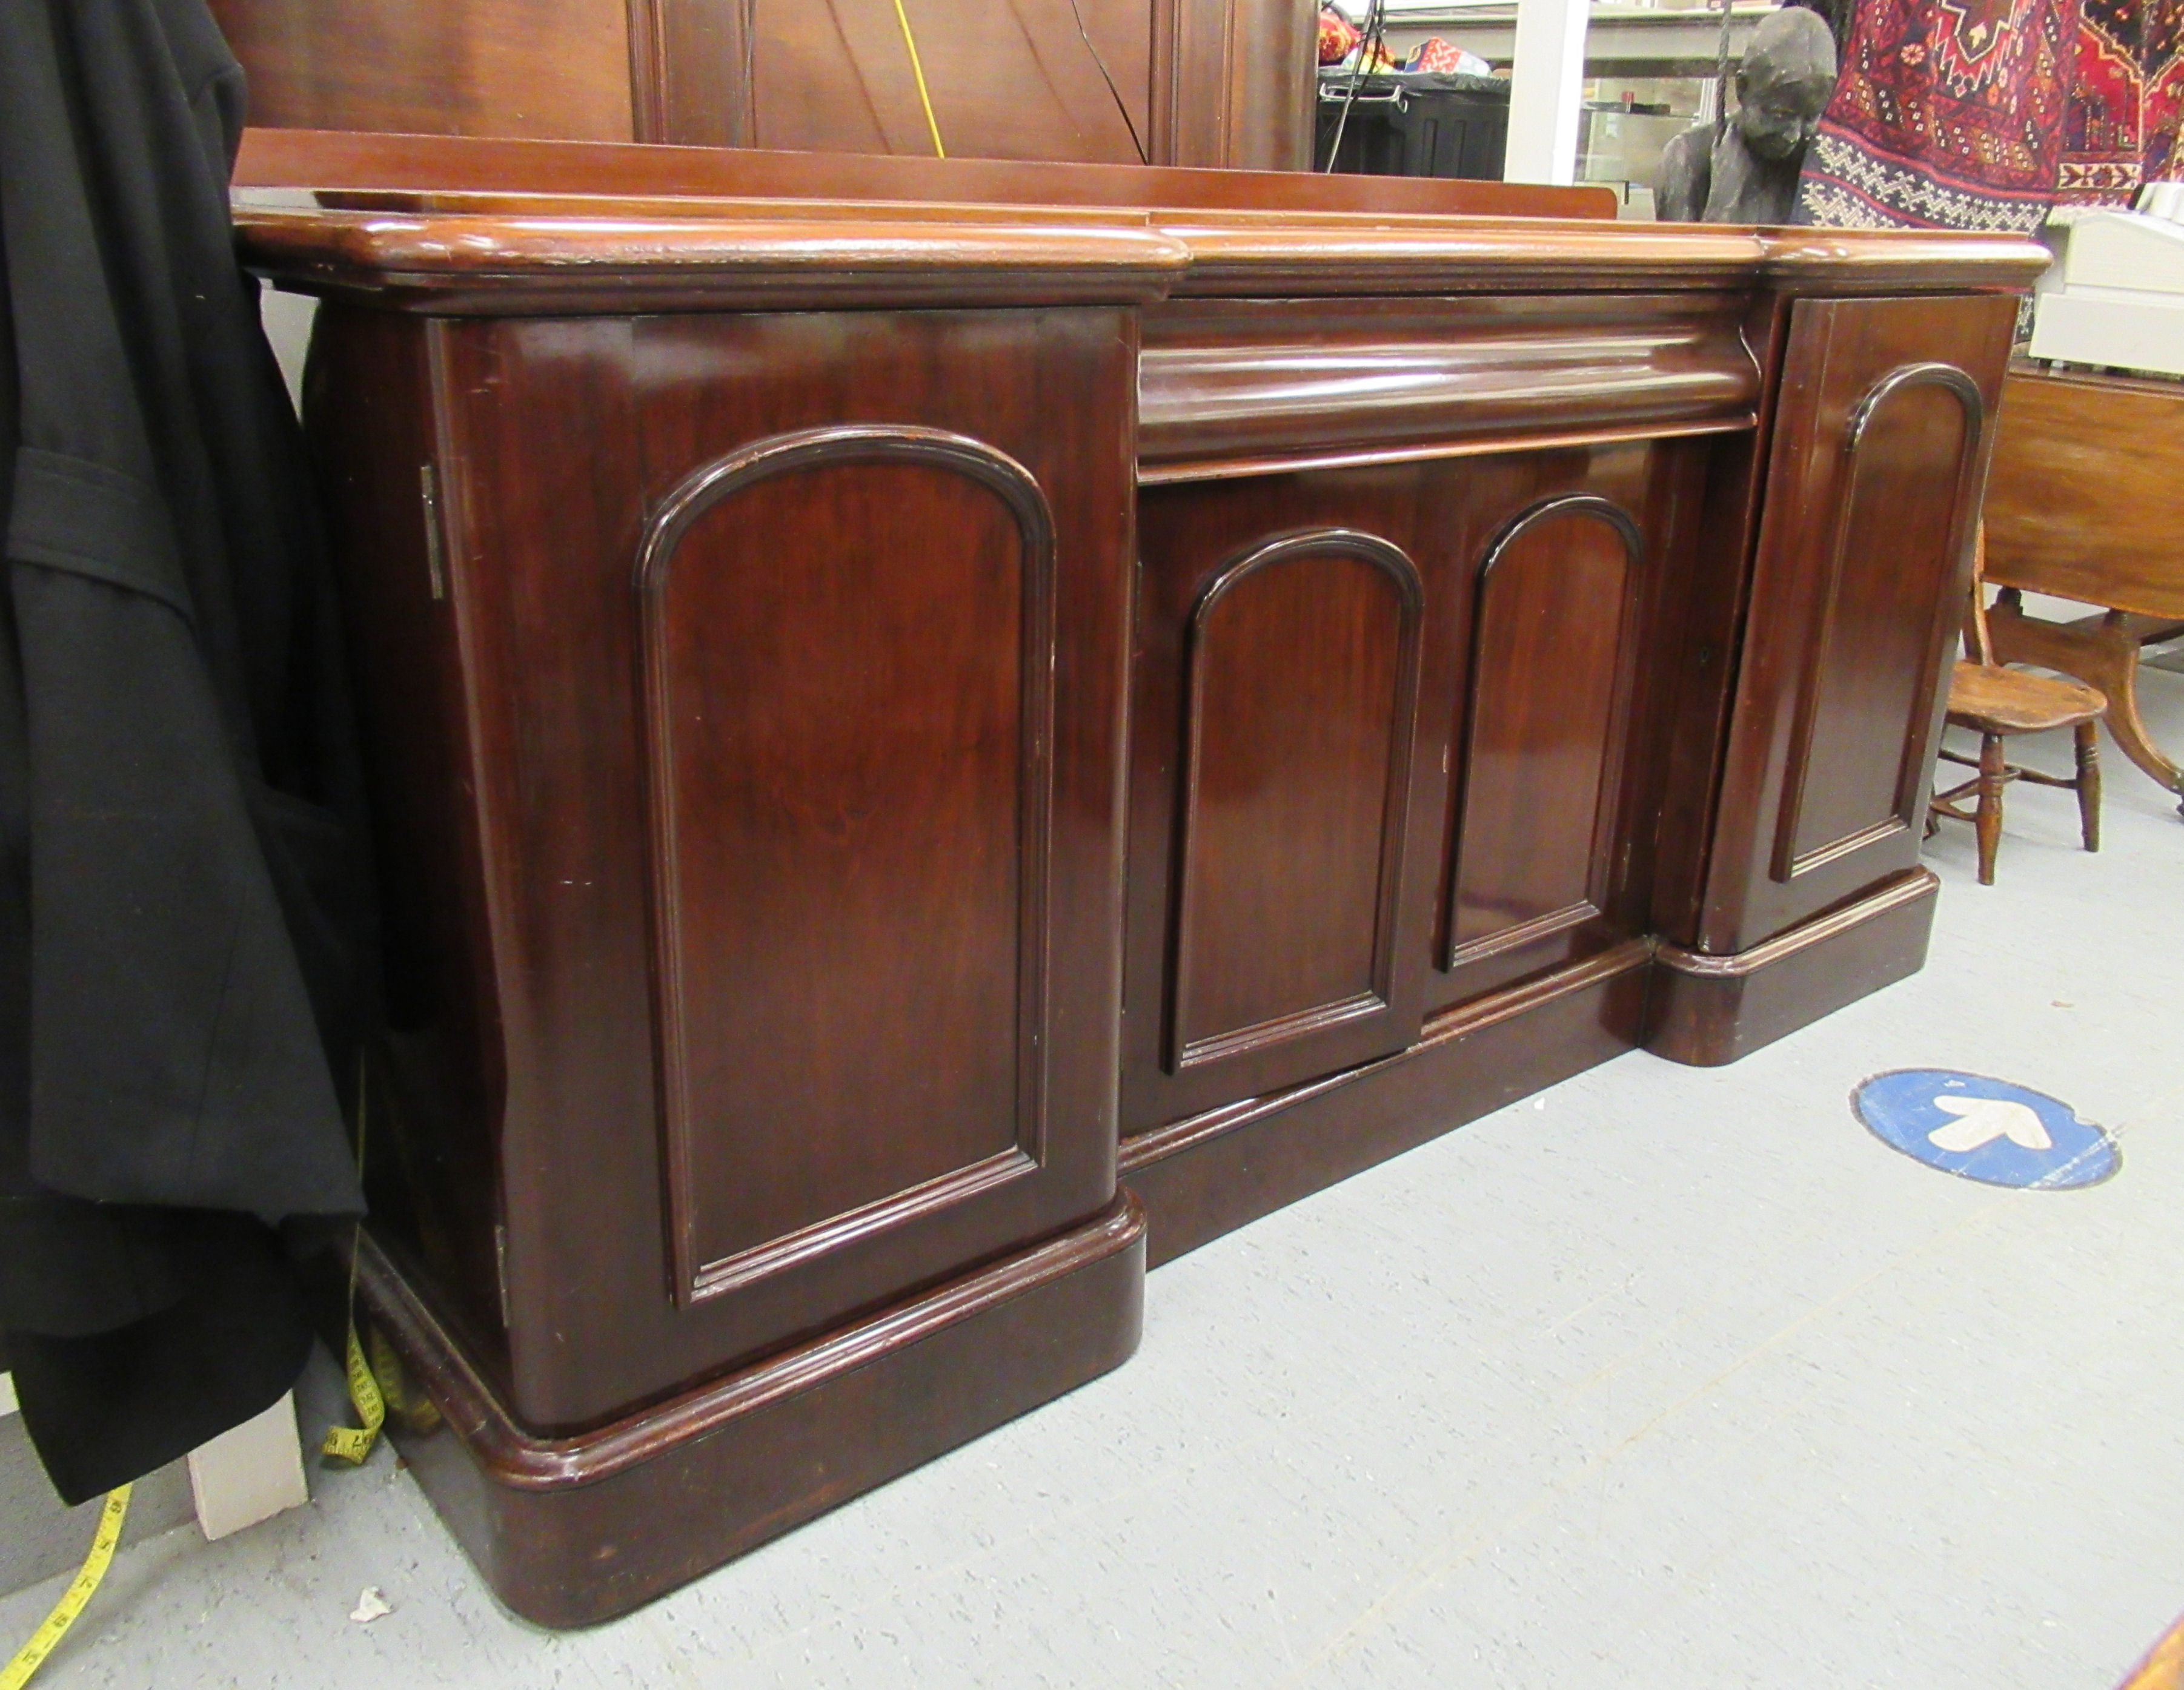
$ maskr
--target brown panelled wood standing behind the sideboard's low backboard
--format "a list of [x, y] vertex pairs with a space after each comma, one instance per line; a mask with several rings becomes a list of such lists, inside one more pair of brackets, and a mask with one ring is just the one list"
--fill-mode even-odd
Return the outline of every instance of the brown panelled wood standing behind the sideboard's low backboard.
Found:
[[[893, 0], [212, 0], [251, 122], [930, 155]], [[904, 0], [957, 157], [1308, 166], [1310, 0]], [[1109, 87], [1112, 83], [1112, 87]]]

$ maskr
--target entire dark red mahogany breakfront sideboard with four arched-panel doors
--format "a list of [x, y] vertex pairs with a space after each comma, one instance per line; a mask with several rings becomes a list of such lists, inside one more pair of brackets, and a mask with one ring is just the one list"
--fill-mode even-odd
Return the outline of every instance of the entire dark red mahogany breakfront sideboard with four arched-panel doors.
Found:
[[286, 157], [238, 223], [328, 299], [384, 795], [367, 1290], [529, 1614], [1116, 1365], [1147, 1249], [1918, 965], [2020, 242]]

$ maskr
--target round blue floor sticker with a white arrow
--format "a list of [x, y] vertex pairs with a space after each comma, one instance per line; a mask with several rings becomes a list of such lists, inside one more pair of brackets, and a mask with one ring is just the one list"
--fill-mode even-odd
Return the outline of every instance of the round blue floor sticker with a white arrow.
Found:
[[1874, 1138], [1985, 1186], [2062, 1192], [2123, 1166], [2108, 1129], [2046, 1092], [1957, 1068], [1896, 1068], [1850, 1094]]

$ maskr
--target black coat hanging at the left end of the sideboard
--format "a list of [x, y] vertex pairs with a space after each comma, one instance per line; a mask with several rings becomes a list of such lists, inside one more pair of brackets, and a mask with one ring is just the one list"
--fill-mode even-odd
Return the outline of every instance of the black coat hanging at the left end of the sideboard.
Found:
[[0, 1332], [68, 1500], [288, 1389], [280, 1229], [363, 1201], [356, 755], [240, 124], [203, 0], [0, 0]]

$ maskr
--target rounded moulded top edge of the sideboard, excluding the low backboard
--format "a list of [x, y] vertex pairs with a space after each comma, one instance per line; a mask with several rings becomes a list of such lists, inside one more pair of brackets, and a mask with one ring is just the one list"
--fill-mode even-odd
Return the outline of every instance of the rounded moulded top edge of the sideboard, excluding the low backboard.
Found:
[[[1070, 166], [1046, 166], [1066, 170]], [[1035, 192], [1035, 190], [1033, 190]], [[767, 306], [1151, 304], [1162, 297], [1509, 295], [1749, 288], [2016, 290], [2029, 242], [1865, 234], [1839, 264], [1769, 231], [1551, 218], [1376, 218], [1147, 207], [1142, 221], [874, 201], [703, 205], [684, 216], [568, 210], [336, 210], [242, 194], [245, 262], [284, 286], [435, 314], [612, 314]], [[1797, 262], [1793, 262], [1797, 260]], [[1787, 269], [1784, 269], [1787, 264]]]

